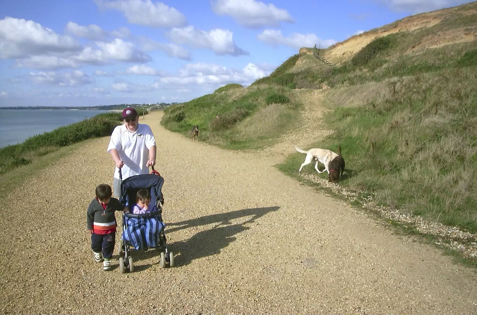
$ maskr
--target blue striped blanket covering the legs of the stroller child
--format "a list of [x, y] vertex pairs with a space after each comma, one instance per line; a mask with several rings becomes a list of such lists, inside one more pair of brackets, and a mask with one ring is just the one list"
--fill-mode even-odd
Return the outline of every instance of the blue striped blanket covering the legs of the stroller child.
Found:
[[125, 218], [127, 228], [121, 239], [127, 241], [136, 250], [153, 248], [159, 242], [159, 233], [166, 227], [157, 218]]

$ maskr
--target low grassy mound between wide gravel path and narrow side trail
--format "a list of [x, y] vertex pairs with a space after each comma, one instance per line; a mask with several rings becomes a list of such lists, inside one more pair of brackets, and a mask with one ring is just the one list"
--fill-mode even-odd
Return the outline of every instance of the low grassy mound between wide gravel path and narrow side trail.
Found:
[[200, 140], [231, 149], [268, 145], [288, 130], [299, 114], [292, 90], [261, 84], [247, 88], [228, 84], [214, 93], [165, 110], [161, 124], [189, 133], [199, 125]]

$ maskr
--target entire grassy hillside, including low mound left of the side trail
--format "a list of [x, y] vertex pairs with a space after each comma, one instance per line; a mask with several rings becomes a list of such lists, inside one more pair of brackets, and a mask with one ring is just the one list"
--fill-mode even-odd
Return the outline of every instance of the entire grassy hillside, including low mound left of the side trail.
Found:
[[[341, 144], [341, 185], [476, 233], [476, 20], [477, 2], [398, 20], [321, 50], [333, 67], [296, 54], [247, 88], [166, 110], [162, 123], [183, 133], [199, 124], [226, 147], [263, 145], [298, 117], [295, 89], [320, 90], [330, 111], [317, 123], [334, 132], [307, 148]], [[291, 154], [280, 169], [296, 174], [302, 161]]]

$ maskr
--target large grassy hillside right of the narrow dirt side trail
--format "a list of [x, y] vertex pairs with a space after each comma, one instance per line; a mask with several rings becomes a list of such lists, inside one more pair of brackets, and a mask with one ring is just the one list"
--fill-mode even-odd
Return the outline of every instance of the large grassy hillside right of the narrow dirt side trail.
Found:
[[[403, 20], [419, 19], [424, 27], [383, 33], [397, 21], [373, 30], [373, 40], [366, 33], [348, 40], [343, 45], [362, 48], [337, 67], [263, 80], [290, 86], [308, 78], [331, 87], [325, 123], [334, 133], [307, 148], [341, 144], [348, 170], [342, 185], [476, 233], [477, 5]], [[342, 47], [325, 58], [337, 62], [336, 49]], [[292, 154], [280, 169], [297, 173], [302, 160]]]

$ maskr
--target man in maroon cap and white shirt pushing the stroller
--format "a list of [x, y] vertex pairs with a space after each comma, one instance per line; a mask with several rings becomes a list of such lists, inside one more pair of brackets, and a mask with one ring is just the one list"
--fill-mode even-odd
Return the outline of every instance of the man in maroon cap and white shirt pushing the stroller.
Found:
[[121, 195], [120, 168], [124, 180], [134, 175], [148, 174], [149, 166], [156, 165], [156, 139], [151, 128], [138, 122], [139, 117], [134, 108], [125, 108], [122, 117], [124, 124], [114, 128], [107, 149], [116, 164], [113, 186], [117, 198]]

